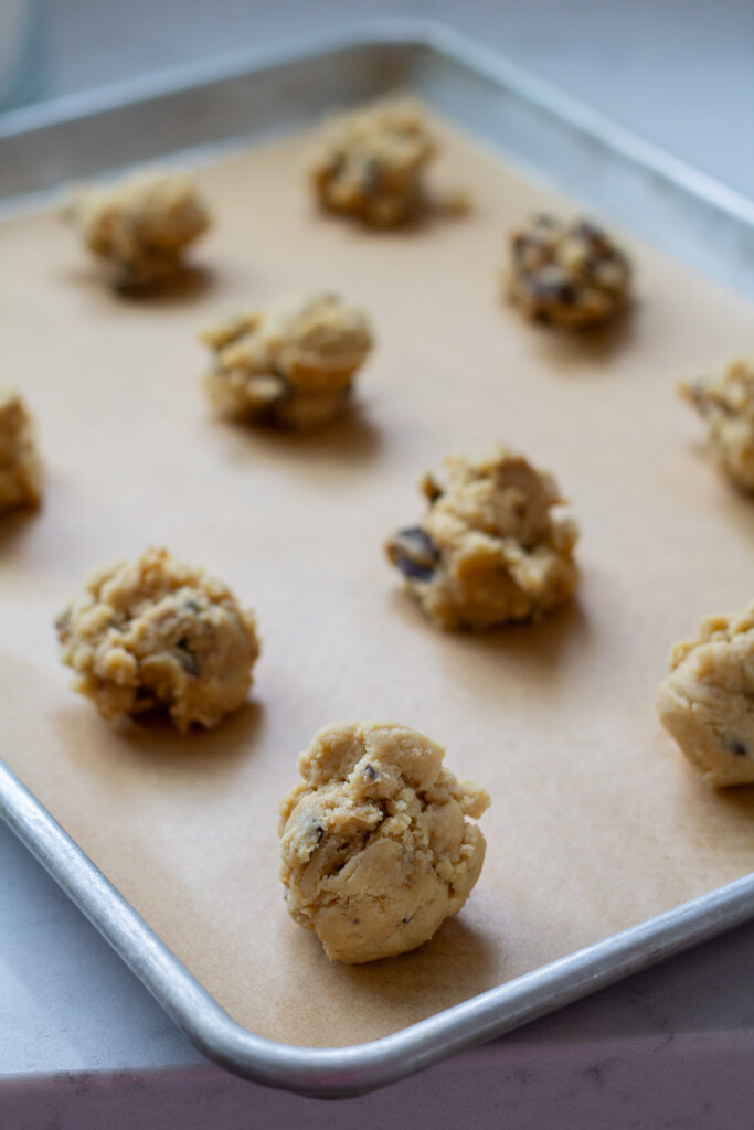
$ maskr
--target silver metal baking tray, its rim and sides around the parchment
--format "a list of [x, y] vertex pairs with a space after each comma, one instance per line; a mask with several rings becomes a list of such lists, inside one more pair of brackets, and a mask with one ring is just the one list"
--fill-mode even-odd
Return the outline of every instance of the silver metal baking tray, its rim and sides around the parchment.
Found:
[[[348, 36], [191, 68], [0, 119], [0, 209], [38, 208], [78, 176], [181, 154], [213, 159], [333, 103], [396, 87], [626, 228], [754, 297], [754, 205], [433, 24], [390, 20]], [[306, 1049], [234, 1022], [0, 762], [0, 817], [154, 993], [228, 1070], [305, 1095], [363, 1094], [509, 1032], [754, 918], [754, 875], [355, 1046]]]

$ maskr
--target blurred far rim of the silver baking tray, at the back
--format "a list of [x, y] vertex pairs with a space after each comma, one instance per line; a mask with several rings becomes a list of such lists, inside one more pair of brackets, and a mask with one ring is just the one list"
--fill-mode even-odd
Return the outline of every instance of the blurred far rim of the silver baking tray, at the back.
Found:
[[189, 88], [209, 87], [251, 72], [380, 46], [421, 51], [451, 59], [754, 229], [754, 200], [743, 192], [666, 153], [555, 84], [431, 18], [387, 16], [356, 20], [335, 31], [330, 28], [288, 37], [261, 49], [224, 54], [207, 62], [185, 63], [156, 75], [125, 79], [94, 90], [8, 111], [0, 114], [0, 140], [45, 130], [63, 122], [94, 118], [128, 105], [171, 97]]

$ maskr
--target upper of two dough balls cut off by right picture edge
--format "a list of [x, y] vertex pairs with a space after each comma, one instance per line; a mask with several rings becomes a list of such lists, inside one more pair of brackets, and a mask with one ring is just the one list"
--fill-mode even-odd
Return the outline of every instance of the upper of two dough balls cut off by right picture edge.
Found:
[[710, 446], [722, 470], [754, 492], [754, 356], [739, 357], [678, 391], [707, 423]]

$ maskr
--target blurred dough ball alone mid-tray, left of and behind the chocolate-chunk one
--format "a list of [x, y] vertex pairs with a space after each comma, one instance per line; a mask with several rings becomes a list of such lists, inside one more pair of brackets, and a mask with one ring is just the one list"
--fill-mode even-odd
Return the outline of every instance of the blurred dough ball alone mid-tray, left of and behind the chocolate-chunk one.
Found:
[[202, 338], [215, 354], [207, 392], [223, 416], [300, 432], [343, 411], [372, 348], [362, 311], [333, 294], [288, 295]]

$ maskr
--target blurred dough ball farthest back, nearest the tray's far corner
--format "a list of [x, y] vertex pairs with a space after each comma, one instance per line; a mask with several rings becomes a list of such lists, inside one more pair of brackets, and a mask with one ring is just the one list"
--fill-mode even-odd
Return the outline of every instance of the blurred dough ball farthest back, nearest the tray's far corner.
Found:
[[331, 211], [395, 227], [425, 207], [423, 174], [434, 153], [418, 106], [367, 106], [324, 125], [311, 163], [312, 184]]

